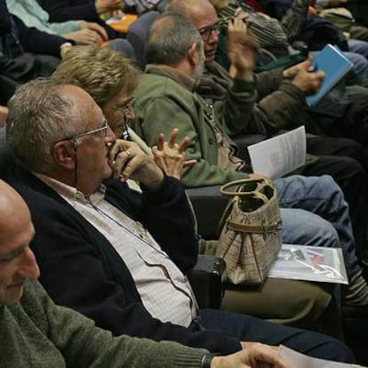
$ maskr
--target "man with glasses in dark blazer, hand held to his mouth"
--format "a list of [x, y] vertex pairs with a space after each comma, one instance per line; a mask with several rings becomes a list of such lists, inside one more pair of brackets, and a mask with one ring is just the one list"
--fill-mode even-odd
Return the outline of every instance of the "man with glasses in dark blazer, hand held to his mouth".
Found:
[[[13, 182], [27, 186], [19, 190], [36, 228], [40, 281], [60, 304], [119, 334], [221, 354], [283, 341], [312, 356], [354, 361], [339, 340], [315, 332], [198, 310], [185, 277], [197, 247], [183, 186], [132, 142], [116, 140], [81, 88], [57, 79], [25, 84], [9, 103], [8, 122], [21, 165]], [[140, 180], [141, 196], [127, 178]]]

